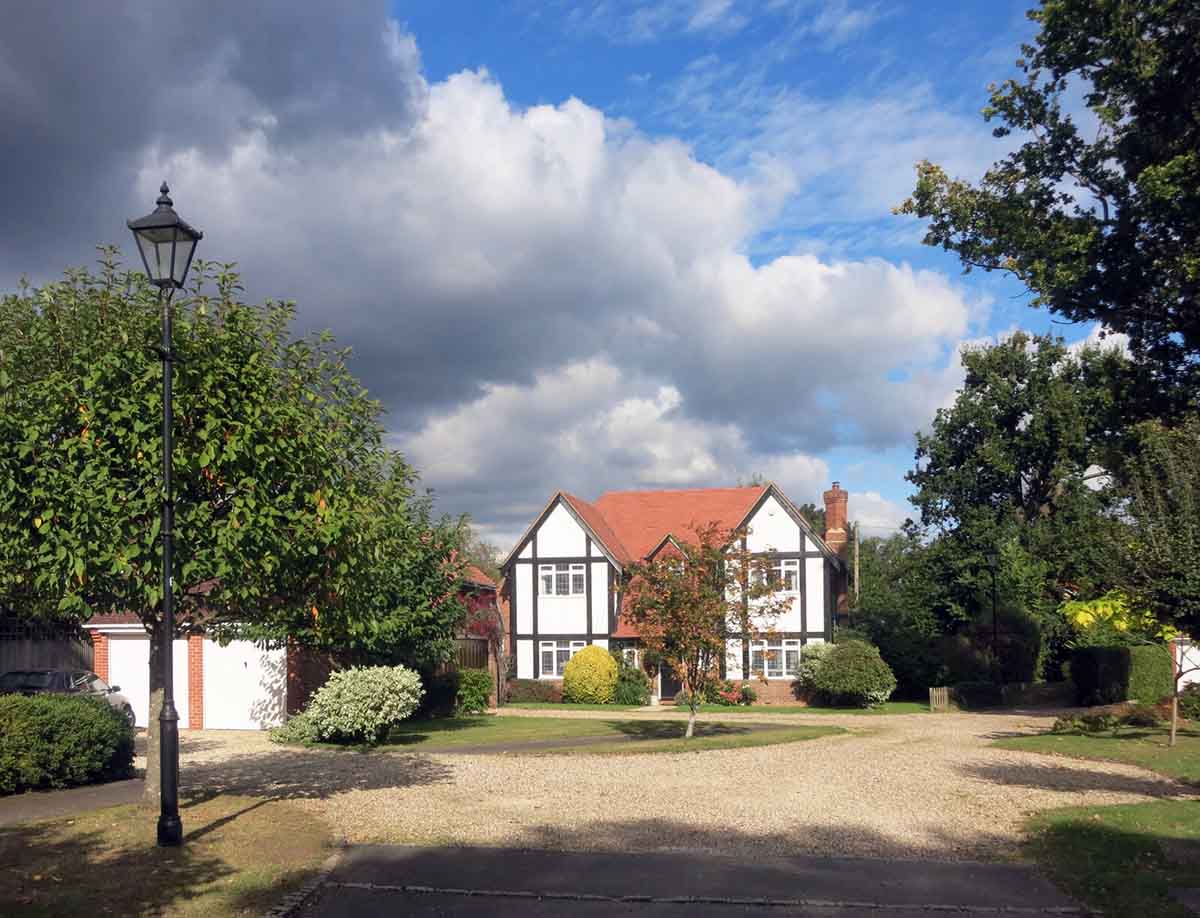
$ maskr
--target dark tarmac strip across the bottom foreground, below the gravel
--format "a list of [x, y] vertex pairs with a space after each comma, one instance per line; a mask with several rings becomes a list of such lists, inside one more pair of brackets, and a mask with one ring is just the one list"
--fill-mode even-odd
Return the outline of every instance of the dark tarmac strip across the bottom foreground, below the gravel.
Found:
[[930, 918], [947, 912], [1084, 914], [1026, 868], [1002, 864], [378, 845], [347, 850], [299, 914]]

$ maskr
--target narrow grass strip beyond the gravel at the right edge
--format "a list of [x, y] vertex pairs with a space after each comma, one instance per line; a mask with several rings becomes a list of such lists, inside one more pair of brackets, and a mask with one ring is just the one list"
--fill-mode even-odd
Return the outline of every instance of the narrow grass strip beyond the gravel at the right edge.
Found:
[[1006, 737], [995, 745], [1025, 752], [1124, 762], [1152, 772], [1200, 782], [1200, 731], [1181, 730], [1175, 749], [1166, 745], [1165, 727], [1121, 727], [1114, 733], [1038, 733]]

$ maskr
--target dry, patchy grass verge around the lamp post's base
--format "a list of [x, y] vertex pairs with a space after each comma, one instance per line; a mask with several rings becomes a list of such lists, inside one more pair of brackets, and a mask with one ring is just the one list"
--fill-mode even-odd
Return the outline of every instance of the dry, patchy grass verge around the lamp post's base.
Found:
[[295, 804], [217, 797], [181, 809], [184, 845], [155, 845], [157, 812], [113, 806], [0, 829], [0, 914], [262, 914], [310, 880], [329, 832]]

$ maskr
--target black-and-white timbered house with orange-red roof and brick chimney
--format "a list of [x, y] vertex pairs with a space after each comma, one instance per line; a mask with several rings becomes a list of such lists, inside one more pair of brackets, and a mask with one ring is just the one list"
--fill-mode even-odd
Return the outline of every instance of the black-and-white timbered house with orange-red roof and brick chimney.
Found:
[[[775, 485], [673, 491], [616, 491], [594, 503], [559, 491], [504, 559], [500, 587], [509, 648], [518, 679], [562, 679], [566, 662], [588, 644], [631, 649], [638, 635], [622, 614], [626, 566], [685, 540], [696, 526], [744, 530], [746, 547], [769, 558], [791, 594], [791, 608], [768, 641], [730, 635], [724, 678], [762, 677], [760, 698], [791, 700], [802, 648], [833, 640], [846, 608], [847, 493], [824, 492], [827, 528], [814, 532]], [[655, 676], [660, 697], [678, 683]]]

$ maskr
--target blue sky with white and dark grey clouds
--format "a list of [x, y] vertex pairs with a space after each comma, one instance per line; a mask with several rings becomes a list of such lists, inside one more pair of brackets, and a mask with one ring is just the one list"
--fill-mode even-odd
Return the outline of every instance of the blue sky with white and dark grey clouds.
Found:
[[959, 354], [1062, 325], [892, 209], [978, 179], [1030, 0], [31, 4], [0, 31], [0, 292], [132, 253], [162, 180], [330, 329], [502, 550], [559, 488], [840, 480], [912, 514]]

